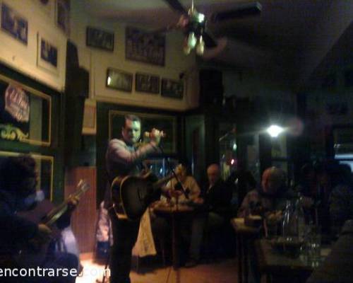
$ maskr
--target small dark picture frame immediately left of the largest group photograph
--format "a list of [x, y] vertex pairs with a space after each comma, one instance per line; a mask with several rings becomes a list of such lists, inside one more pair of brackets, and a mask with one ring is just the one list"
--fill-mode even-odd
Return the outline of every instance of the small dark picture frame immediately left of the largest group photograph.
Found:
[[114, 33], [88, 26], [86, 28], [86, 45], [113, 52]]

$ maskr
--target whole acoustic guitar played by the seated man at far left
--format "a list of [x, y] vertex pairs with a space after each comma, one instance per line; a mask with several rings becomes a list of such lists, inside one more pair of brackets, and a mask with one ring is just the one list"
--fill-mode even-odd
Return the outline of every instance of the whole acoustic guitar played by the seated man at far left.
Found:
[[35, 243], [30, 242], [25, 246], [20, 247], [18, 253], [12, 256], [13, 262], [20, 267], [37, 267], [44, 262], [47, 256], [47, 249], [49, 244], [55, 238], [61, 235], [61, 232], [56, 227], [56, 221], [66, 212], [68, 208], [68, 202], [74, 197], [80, 197], [86, 192], [90, 186], [84, 180], [80, 180], [76, 187], [76, 191], [73, 192], [64, 202], [59, 206], [54, 207], [52, 202], [49, 200], [43, 200], [38, 202], [34, 209], [18, 212], [18, 216], [22, 216], [35, 224], [45, 224], [52, 230], [52, 236], [50, 241], [46, 243]]

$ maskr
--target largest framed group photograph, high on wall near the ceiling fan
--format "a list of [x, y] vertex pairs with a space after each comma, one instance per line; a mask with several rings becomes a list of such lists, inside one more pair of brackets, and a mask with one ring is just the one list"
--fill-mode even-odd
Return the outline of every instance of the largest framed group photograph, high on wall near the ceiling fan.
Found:
[[164, 66], [165, 36], [126, 27], [125, 57], [133, 61]]

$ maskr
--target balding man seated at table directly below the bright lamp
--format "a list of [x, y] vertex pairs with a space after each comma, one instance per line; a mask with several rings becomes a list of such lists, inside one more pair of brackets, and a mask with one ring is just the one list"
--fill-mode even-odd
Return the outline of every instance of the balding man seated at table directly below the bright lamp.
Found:
[[283, 210], [286, 200], [290, 197], [294, 195], [285, 187], [285, 172], [276, 167], [267, 168], [263, 171], [261, 187], [251, 190], [244, 197], [238, 217]]

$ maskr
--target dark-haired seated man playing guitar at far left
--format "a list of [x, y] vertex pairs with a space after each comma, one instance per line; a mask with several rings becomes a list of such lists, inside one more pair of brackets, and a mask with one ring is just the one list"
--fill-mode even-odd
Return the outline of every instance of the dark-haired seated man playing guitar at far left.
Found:
[[[37, 171], [35, 160], [30, 156], [8, 157], [0, 168], [0, 255], [1, 267], [21, 268], [16, 255], [23, 247], [44, 246], [52, 239], [52, 230], [44, 224], [19, 216], [17, 212], [27, 211], [36, 206]], [[56, 222], [59, 229], [68, 226], [71, 212], [77, 200], [69, 203], [67, 212]], [[78, 258], [68, 253], [56, 253], [50, 250], [44, 253], [42, 268], [78, 268]], [[33, 253], [36, 253], [34, 251]], [[26, 260], [26, 258], [25, 258]], [[37, 267], [35, 267], [37, 268]], [[48, 275], [35, 277], [7, 277], [7, 282], [75, 282], [75, 276], [64, 277]], [[1, 279], [2, 280], [2, 279]], [[11, 281], [12, 280], [12, 281]], [[1, 281], [2, 282], [2, 281]]]

